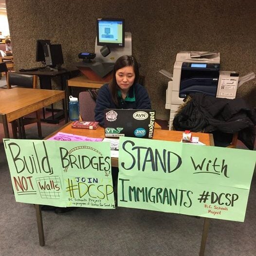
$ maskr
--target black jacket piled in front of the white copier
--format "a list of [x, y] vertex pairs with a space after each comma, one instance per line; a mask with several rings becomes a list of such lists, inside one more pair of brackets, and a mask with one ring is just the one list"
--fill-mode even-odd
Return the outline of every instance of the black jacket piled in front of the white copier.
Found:
[[215, 98], [204, 93], [189, 96], [192, 99], [174, 117], [176, 130], [238, 132], [238, 139], [253, 150], [256, 109], [250, 110], [243, 98]]

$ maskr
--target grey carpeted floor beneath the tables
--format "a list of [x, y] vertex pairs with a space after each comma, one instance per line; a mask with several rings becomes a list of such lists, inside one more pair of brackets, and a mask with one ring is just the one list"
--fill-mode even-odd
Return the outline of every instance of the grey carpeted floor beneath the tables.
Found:
[[[42, 123], [43, 136], [60, 127]], [[37, 128], [26, 128], [28, 139]], [[197, 256], [203, 218], [117, 207], [44, 211], [45, 246], [38, 243], [35, 209], [15, 202], [0, 127], [0, 256]], [[246, 170], [244, 170], [246, 171]], [[211, 219], [205, 256], [256, 255], [256, 177], [244, 223]]]

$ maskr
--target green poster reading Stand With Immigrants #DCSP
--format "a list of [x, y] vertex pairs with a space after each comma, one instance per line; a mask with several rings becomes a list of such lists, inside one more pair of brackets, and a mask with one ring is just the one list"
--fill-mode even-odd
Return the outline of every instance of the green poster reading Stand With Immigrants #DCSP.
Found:
[[244, 221], [256, 152], [120, 138], [118, 206]]

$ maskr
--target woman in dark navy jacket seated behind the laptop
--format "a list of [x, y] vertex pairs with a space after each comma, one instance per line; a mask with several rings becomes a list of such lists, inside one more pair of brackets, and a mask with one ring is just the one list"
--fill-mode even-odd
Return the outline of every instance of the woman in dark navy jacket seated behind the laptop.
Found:
[[97, 96], [95, 121], [104, 127], [105, 109], [150, 110], [151, 103], [146, 88], [138, 84], [138, 62], [132, 55], [119, 57], [113, 68], [113, 79], [103, 85]]

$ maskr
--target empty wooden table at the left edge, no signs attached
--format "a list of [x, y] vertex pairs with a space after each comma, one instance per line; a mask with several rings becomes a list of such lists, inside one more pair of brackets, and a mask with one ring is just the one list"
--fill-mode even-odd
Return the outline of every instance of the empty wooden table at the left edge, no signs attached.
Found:
[[0, 123], [5, 138], [10, 138], [8, 123], [42, 109], [59, 100], [64, 102], [65, 120], [68, 122], [65, 91], [39, 90], [30, 88], [0, 89]]

